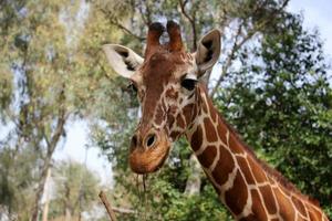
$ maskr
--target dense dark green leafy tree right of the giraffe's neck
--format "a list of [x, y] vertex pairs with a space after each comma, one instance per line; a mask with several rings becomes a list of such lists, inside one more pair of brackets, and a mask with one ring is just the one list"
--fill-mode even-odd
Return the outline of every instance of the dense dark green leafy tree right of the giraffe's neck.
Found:
[[216, 102], [247, 144], [331, 215], [331, 74], [318, 33], [303, 30], [301, 17], [289, 14], [278, 29], [253, 57], [239, 52], [243, 66]]

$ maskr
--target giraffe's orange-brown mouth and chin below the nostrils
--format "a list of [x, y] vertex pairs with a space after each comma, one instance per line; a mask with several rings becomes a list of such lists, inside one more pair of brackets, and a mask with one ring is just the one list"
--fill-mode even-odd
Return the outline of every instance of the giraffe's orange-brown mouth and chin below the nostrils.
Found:
[[157, 171], [164, 165], [170, 150], [170, 141], [166, 134], [151, 148], [137, 147], [129, 154], [131, 169], [139, 175]]

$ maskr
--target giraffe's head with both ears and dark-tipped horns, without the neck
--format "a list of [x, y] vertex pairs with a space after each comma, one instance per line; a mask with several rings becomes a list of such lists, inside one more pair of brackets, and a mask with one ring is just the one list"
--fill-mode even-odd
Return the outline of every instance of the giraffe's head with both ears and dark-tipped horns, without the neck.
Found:
[[142, 118], [133, 135], [129, 165], [137, 173], [156, 171], [168, 156], [170, 145], [197, 116], [198, 81], [220, 53], [220, 32], [212, 30], [187, 53], [177, 23], [167, 22], [169, 42], [159, 43], [165, 31], [149, 25], [144, 59], [117, 44], [103, 46], [114, 71], [127, 77], [141, 103]]

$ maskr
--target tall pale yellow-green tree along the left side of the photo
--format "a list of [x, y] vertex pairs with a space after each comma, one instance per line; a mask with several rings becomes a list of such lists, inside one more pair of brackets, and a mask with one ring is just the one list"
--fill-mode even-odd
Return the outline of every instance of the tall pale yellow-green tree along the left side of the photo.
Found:
[[[33, 160], [22, 160], [21, 167], [7, 166], [11, 167], [8, 171], [32, 168], [32, 175], [24, 176], [27, 186], [18, 183], [13, 188], [15, 192], [33, 192], [34, 202], [24, 207], [32, 207], [31, 219], [37, 220], [53, 152], [65, 141], [65, 125], [93, 113], [90, 104], [107, 86], [100, 60], [101, 41], [116, 38], [117, 33], [110, 31], [112, 27], [101, 22], [100, 15], [97, 22], [83, 29], [86, 19], [95, 19], [85, 1], [1, 1], [0, 6], [4, 22], [0, 25], [0, 114], [4, 128], [10, 130], [1, 140], [1, 148], [7, 147], [1, 154], [7, 157], [10, 152], [17, 160], [34, 152]], [[80, 35], [83, 31], [93, 36], [91, 41]], [[91, 65], [86, 65], [87, 60]], [[1, 181], [10, 178], [20, 180], [7, 172]], [[20, 213], [20, 207], [10, 203], [21, 202], [17, 197], [1, 201], [13, 214]]]

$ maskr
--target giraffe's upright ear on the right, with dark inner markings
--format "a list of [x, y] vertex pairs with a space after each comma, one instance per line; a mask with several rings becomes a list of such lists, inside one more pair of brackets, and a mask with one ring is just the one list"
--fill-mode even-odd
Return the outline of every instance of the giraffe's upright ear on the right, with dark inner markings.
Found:
[[221, 48], [220, 38], [220, 31], [214, 29], [199, 41], [196, 52], [198, 77], [200, 77], [207, 70], [211, 69], [218, 61]]

